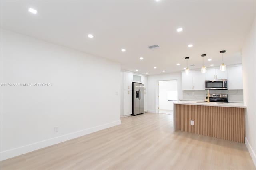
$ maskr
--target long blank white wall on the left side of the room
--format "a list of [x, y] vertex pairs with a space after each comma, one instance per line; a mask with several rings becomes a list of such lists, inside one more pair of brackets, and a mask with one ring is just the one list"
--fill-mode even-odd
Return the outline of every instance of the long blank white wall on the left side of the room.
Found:
[[1, 29], [1, 83], [52, 83], [1, 87], [2, 160], [120, 124], [118, 63]]

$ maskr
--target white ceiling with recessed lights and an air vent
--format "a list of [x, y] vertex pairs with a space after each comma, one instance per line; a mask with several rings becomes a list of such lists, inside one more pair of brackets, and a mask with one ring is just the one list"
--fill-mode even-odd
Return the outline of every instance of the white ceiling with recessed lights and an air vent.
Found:
[[[200, 68], [204, 53], [206, 67], [219, 66], [221, 50], [226, 50], [225, 64], [242, 63], [241, 49], [255, 6], [255, 1], [244, 0], [1, 1], [1, 28], [117, 61], [123, 70], [152, 75], [183, 70], [187, 56], [188, 64], [195, 64], [190, 69]], [[183, 31], [177, 32], [180, 27]], [[156, 44], [160, 48], [148, 48]]]

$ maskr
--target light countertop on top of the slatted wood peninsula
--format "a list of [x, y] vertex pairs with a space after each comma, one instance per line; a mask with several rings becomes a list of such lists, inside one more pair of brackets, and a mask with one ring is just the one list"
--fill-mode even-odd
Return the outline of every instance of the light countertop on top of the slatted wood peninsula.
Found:
[[217, 107], [240, 107], [246, 108], [244, 103], [215, 103], [215, 102], [204, 102], [204, 101], [176, 101], [174, 104], [181, 105], [201, 105], [201, 106], [217, 106]]

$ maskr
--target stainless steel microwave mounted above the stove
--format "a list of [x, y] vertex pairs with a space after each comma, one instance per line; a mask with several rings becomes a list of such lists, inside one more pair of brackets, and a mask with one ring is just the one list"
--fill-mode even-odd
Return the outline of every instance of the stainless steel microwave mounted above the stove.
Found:
[[227, 90], [228, 89], [227, 79], [206, 80], [205, 89], [206, 90]]

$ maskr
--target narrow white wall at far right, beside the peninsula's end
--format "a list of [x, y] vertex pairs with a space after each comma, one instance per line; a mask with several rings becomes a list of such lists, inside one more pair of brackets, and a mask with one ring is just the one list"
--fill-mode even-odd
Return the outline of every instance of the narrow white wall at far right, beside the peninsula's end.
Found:
[[245, 113], [245, 129], [246, 129], [246, 146], [252, 156], [256, 166], [256, 22], [252, 24], [252, 28], [244, 42], [242, 48], [242, 65], [244, 77], [244, 104], [246, 105]]

